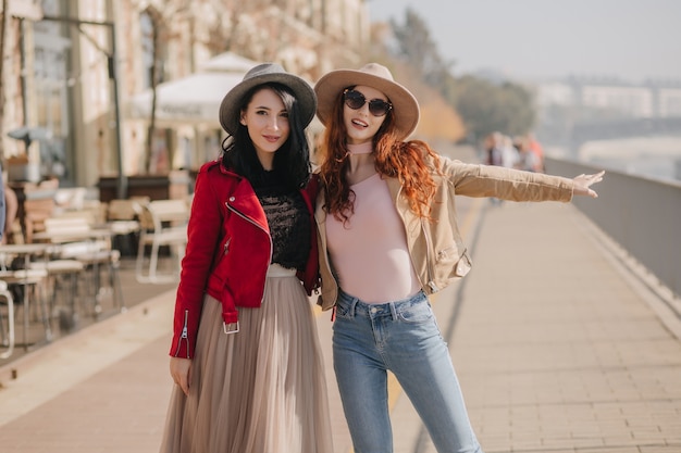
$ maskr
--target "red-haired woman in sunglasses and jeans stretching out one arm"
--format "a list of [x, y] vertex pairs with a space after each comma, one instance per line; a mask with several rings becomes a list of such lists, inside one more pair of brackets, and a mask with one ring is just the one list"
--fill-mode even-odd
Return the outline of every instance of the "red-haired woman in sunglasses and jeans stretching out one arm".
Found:
[[406, 141], [419, 104], [379, 64], [332, 71], [315, 85], [323, 183], [321, 304], [333, 307], [336, 380], [356, 453], [392, 453], [391, 370], [439, 453], [481, 452], [428, 295], [471, 268], [456, 196], [515, 201], [596, 197], [603, 173], [574, 179], [472, 165]]

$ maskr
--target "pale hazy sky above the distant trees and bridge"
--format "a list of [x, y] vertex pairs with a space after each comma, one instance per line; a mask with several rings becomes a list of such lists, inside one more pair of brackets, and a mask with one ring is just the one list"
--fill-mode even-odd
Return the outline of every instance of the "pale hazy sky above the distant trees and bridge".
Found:
[[454, 73], [681, 80], [681, 0], [367, 0], [371, 21], [431, 27]]

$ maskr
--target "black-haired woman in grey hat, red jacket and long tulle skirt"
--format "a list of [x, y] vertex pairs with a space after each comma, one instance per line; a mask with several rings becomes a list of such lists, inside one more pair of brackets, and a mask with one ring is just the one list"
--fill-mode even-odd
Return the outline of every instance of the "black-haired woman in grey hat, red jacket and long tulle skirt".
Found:
[[261, 64], [224, 97], [201, 167], [175, 302], [162, 453], [332, 453], [308, 295], [319, 263], [305, 128], [317, 98]]

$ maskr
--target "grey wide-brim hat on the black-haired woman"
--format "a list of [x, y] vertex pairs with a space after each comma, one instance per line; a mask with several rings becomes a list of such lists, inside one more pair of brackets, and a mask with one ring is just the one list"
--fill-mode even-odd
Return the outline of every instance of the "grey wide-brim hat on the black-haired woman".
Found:
[[276, 83], [288, 87], [298, 99], [300, 119], [307, 127], [314, 117], [317, 96], [305, 79], [289, 74], [276, 63], [262, 63], [252, 67], [244, 76], [244, 80], [232, 88], [220, 104], [220, 124], [230, 135], [239, 128], [240, 106], [244, 96], [253, 87], [268, 83]]

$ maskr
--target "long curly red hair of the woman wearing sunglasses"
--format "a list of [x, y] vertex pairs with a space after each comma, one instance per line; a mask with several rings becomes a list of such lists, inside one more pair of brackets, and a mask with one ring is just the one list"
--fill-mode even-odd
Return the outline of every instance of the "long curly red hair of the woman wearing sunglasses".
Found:
[[[355, 193], [345, 178], [349, 152], [346, 146], [347, 129], [343, 122], [343, 93], [339, 92], [320, 146], [323, 156], [320, 176], [326, 199], [324, 210], [338, 221], [345, 222], [355, 212]], [[401, 141], [393, 118], [393, 111], [389, 111], [373, 137], [376, 172], [398, 178], [409, 207], [418, 216], [430, 218], [430, 204], [436, 187], [432, 172], [439, 167], [439, 159], [422, 140]]]

